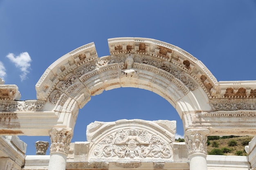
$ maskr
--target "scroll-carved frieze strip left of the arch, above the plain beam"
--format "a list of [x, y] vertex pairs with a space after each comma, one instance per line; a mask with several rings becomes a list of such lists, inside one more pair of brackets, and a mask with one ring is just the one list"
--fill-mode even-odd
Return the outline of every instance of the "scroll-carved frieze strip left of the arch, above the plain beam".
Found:
[[2, 101], [0, 102], [0, 112], [40, 111], [44, 104], [43, 100]]

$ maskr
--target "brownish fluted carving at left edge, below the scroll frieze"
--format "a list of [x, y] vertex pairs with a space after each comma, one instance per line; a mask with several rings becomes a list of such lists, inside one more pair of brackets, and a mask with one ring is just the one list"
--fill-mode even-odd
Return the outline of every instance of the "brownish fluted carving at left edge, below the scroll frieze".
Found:
[[0, 113], [0, 128], [20, 128], [17, 113]]

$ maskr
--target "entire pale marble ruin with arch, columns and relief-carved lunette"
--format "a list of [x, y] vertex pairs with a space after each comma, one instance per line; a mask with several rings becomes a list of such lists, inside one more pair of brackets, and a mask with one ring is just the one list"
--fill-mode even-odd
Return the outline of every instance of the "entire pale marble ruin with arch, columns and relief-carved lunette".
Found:
[[[148, 38], [112, 38], [110, 55], [94, 43], [59, 58], [36, 84], [37, 99], [19, 101], [16, 85], [0, 85], [0, 170], [249, 170], [256, 139], [245, 156], [207, 155], [207, 136], [256, 135], [256, 81], [218, 82], [200, 60], [177, 46]], [[175, 121], [94, 122], [85, 142], [70, 143], [79, 108], [90, 97], [120, 87], [142, 88], [166, 99]], [[38, 155], [25, 156], [18, 135], [49, 136]], [[3, 168], [2, 168], [3, 167]]]

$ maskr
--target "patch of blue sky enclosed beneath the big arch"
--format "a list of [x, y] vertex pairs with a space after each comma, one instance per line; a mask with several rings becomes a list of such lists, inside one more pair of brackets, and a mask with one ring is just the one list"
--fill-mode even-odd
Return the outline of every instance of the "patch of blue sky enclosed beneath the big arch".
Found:
[[139, 88], [116, 88], [93, 96], [79, 110], [72, 141], [85, 141], [91, 122], [119, 119], [176, 120], [177, 134], [184, 133], [177, 111], [161, 96]]

